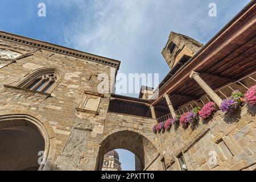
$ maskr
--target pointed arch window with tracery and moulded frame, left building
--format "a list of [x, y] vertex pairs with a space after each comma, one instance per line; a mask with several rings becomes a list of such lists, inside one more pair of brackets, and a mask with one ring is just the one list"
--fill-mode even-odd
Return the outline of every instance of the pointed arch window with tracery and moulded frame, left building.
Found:
[[62, 72], [56, 68], [40, 68], [17, 86], [36, 92], [51, 93], [57, 83], [60, 82], [60, 78], [63, 78], [62, 75]]

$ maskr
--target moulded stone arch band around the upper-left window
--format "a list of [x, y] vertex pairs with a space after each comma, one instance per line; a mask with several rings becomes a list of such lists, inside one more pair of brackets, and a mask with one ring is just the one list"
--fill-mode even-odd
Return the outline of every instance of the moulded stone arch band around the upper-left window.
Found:
[[51, 93], [57, 85], [63, 80], [64, 78], [64, 71], [57, 67], [46, 67], [46, 68], [39, 68], [35, 69], [32, 73], [30, 73], [25, 79], [19, 81], [16, 85], [17, 87], [24, 87], [26, 85], [31, 85], [31, 82], [35, 80], [36, 77], [42, 76], [44, 74], [51, 74], [54, 73], [57, 76], [57, 80], [51, 85], [51, 88], [47, 90], [47, 93]]

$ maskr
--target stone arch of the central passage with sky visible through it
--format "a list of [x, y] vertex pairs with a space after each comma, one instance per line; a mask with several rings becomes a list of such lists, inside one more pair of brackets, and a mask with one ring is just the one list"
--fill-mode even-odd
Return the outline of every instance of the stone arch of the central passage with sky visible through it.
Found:
[[101, 170], [104, 155], [117, 148], [133, 152], [141, 161], [141, 167], [138, 169], [140, 171], [159, 154], [154, 142], [151, 142], [141, 131], [131, 128], [114, 129], [105, 134], [100, 143], [96, 170]]

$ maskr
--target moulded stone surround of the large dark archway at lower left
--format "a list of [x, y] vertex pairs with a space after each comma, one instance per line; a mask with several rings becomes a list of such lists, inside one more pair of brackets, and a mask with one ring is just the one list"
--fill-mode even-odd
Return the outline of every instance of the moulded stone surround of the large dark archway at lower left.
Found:
[[0, 110], [0, 130], [20, 130], [20, 127], [24, 126], [37, 129], [44, 140], [46, 163], [40, 165], [38, 170], [52, 169], [55, 160], [56, 138], [51, 124], [33, 111]]

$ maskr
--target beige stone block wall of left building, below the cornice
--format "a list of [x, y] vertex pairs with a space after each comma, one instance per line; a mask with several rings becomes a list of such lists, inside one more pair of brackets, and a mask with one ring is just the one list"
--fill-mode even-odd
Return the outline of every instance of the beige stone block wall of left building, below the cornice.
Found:
[[[106, 73], [109, 77], [110, 74], [113, 76], [113, 73], [110, 73], [110, 66], [8, 40], [0, 39], [0, 41], [1, 49], [11, 49], [25, 55], [23, 58], [16, 60], [16, 63], [9, 64], [8, 62], [0, 69], [1, 113], [23, 113], [38, 117], [40, 121], [47, 121], [49, 123], [47, 125], [49, 135], [52, 135], [51, 138], [56, 138], [55, 147], [53, 148], [53, 161], [57, 159], [61, 152], [64, 153], [59, 156], [62, 159], [57, 160], [59, 163], [55, 168], [71, 170], [79, 168], [80, 160], [84, 158], [89, 160], [87, 156], [97, 153], [97, 149], [93, 146], [97, 140], [97, 134], [101, 133], [110, 95], [105, 94], [100, 97], [97, 107], [98, 115], [95, 117], [90, 114], [79, 113], [76, 108], [81, 106], [85, 91], [97, 93], [97, 86], [100, 82], [97, 80], [97, 76], [100, 73]], [[60, 83], [53, 90], [50, 97], [43, 93], [15, 88], [27, 75], [38, 68], [46, 67], [55, 67], [63, 72], [63, 78], [61, 78]], [[73, 133], [72, 130], [74, 130]], [[79, 132], [82, 134], [79, 134]], [[76, 140], [79, 137], [81, 137], [82, 142], [85, 142], [81, 148], [76, 146]], [[77, 150], [76, 147], [78, 147]], [[72, 162], [67, 158], [76, 158], [72, 160], [78, 160], [78, 162]], [[72, 164], [68, 166], [63, 164], [63, 161], [69, 161]], [[95, 161], [92, 163], [95, 163]], [[95, 164], [93, 165], [95, 166]], [[88, 165], [88, 169], [94, 169], [94, 166], [90, 167]], [[49, 167], [53, 168], [54, 165], [51, 164]]]

